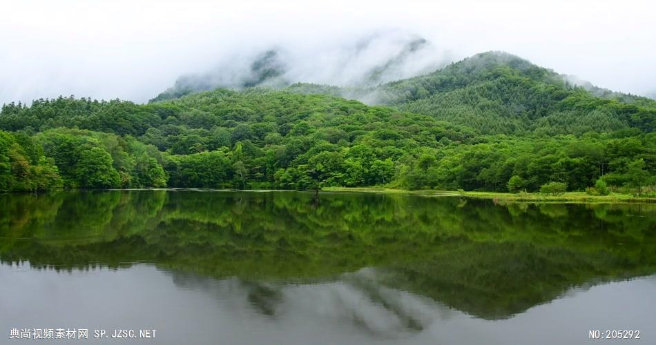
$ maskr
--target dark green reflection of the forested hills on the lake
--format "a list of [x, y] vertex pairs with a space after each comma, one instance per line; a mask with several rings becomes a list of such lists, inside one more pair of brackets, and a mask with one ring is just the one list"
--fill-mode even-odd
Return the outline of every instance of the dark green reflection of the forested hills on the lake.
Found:
[[275, 313], [275, 286], [333, 282], [366, 267], [375, 279], [358, 286], [372, 299], [384, 297], [371, 286], [387, 286], [490, 319], [572, 286], [656, 272], [655, 205], [350, 193], [316, 204], [311, 193], [164, 190], [0, 195], [0, 204], [3, 262], [152, 262], [235, 276], [262, 286], [252, 298], [265, 314]]

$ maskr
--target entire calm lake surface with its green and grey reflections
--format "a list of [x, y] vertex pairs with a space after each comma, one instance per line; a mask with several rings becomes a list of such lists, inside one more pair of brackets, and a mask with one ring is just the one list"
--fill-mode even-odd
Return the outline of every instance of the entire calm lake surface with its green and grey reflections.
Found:
[[[81, 344], [656, 344], [655, 205], [164, 190], [0, 205], [0, 344], [48, 343], [12, 328], [86, 328]], [[640, 339], [588, 339], [607, 329]]]

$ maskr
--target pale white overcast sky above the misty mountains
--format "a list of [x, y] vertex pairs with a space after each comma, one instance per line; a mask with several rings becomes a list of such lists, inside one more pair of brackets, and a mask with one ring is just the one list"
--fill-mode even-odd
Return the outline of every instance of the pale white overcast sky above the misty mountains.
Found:
[[653, 1], [0, 0], [0, 13], [0, 103], [144, 102], [236, 52], [325, 50], [380, 30], [425, 37], [436, 59], [503, 50], [603, 88], [656, 93]]

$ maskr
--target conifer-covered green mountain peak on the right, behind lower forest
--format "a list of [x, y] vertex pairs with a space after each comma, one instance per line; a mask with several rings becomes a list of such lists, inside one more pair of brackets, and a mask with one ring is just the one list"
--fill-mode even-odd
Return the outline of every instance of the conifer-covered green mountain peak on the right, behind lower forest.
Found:
[[656, 126], [656, 101], [611, 92], [505, 52], [484, 52], [427, 75], [373, 88], [298, 83], [293, 92], [321, 92], [432, 115], [481, 134], [582, 135]]

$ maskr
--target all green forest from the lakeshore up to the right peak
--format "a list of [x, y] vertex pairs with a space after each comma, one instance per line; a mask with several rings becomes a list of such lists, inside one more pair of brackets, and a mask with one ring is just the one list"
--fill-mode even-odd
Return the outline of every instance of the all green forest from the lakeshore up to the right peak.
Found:
[[487, 52], [375, 88], [296, 83], [148, 104], [73, 96], [8, 103], [0, 112], [0, 190], [386, 186], [655, 195], [655, 127], [654, 100], [586, 90]]

